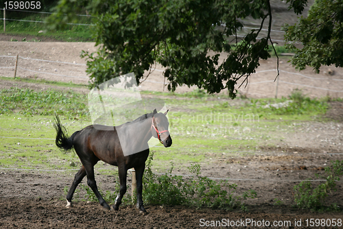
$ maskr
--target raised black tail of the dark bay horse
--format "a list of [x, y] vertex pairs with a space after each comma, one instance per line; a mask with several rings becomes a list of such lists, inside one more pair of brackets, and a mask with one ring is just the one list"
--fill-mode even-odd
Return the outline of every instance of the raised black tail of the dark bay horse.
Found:
[[60, 119], [55, 115], [54, 128], [56, 130], [56, 145], [64, 151], [69, 151], [73, 148], [73, 138], [77, 132], [71, 135], [69, 138], [67, 130], [61, 124]]

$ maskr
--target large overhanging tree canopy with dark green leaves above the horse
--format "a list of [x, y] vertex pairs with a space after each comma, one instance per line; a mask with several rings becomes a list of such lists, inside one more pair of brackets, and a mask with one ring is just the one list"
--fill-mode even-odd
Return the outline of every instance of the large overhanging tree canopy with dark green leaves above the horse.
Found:
[[[287, 3], [300, 13], [307, 0]], [[51, 24], [63, 25], [82, 8], [95, 16], [99, 45], [96, 53], [82, 53], [88, 58], [91, 87], [130, 72], [139, 83], [144, 71], [159, 63], [166, 68], [163, 74], [171, 91], [181, 85], [198, 86], [208, 93], [227, 88], [235, 98], [237, 81], [248, 83], [259, 60], [270, 58], [269, 0], [61, 0]], [[248, 16], [261, 19], [261, 25], [239, 38], [237, 30], [244, 27], [241, 19]], [[258, 40], [264, 24], [268, 34]], [[220, 63], [222, 52], [228, 56]]]

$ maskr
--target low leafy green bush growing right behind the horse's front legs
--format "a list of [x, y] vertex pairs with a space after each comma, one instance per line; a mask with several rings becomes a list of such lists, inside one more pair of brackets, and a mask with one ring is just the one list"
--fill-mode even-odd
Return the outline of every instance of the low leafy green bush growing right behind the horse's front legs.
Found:
[[252, 190], [244, 192], [243, 195], [234, 195], [233, 191], [237, 184], [228, 184], [224, 180], [217, 182], [200, 176], [200, 165], [189, 167], [191, 173], [189, 178], [171, 175], [173, 166], [165, 175], [157, 176], [151, 170], [152, 159], [153, 154], [150, 154], [143, 178], [143, 200], [147, 204], [244, 209], [241, 200], [257, 196], [257, 193]]

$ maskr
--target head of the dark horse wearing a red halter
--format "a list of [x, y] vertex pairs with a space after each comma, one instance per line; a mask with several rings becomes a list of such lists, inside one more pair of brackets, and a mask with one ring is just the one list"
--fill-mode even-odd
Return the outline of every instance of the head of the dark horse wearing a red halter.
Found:
[[158, 138], [158, 140], [165, 146], [171, 146], [171, 137], [168, 131], [169, 121], [166, 117], [168, 110], [164, 113], [158, 113], [156, 109], [153, 112], [152, 117], [152, 127], [151, 132], [152, 136]]

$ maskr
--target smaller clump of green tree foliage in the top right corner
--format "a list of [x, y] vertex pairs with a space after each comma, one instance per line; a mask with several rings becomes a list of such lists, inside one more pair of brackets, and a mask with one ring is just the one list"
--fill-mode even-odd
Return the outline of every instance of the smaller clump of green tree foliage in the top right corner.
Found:
[[[292, 58], [296, 69], [309, 66], [319, 73], [322, 65], [343, 67], [343, 1], [316, 0], [306, 18], [287, 25], [285, 41], [296, 49]], [[303, 47], [296, 48], [297, 43]]]

